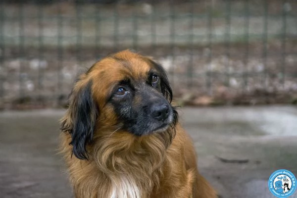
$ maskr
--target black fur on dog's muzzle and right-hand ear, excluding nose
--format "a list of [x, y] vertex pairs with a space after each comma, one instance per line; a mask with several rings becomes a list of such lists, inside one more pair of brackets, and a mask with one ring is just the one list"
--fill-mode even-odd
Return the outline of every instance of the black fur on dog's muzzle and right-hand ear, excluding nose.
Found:
[[[141, 136], [152, 132], [165, 130], [177, 123], [178, 113], [170, 105], [172, 90], [164, 69], [157, 63], [151, 61], [154, 71], [148, 73], [148, 79], [143, 82], [129, 82], [129, 84], [119, 85], [128, 92], [125, 97], [111, 97], [110, 102], [114, 106], [119, 117], [119, 122], [123, 124], [123, 129]], [[152, 86], [151, 76], [158, 75], [159, 82]], [[168, 107], [168, 118], [155, 119], [152, 116], [156, 106]]]

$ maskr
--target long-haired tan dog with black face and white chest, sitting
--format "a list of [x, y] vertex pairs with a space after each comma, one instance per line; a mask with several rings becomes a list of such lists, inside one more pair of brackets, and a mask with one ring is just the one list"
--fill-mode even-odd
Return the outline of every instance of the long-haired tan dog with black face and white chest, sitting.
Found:
[[76, 198], [216, 198], [198, 173], [165, 70], [120, 51], [80, 75], [60, 121]]

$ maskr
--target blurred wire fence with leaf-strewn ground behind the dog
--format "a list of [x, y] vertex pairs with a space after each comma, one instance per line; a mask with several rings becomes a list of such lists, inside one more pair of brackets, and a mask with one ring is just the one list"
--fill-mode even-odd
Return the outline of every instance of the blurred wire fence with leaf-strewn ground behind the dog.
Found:
[[64, 106], [78, 73], [127, 48], [164, 66], [181, 104], [297, 100], [296, 0], [8, 2], [0, 109]]

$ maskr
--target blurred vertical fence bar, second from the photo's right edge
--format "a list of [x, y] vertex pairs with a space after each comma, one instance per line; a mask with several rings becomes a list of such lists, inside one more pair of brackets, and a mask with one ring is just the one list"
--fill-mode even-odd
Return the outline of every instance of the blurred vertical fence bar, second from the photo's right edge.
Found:
[[263, 45], [263, 52], [262, 52], [262, 61], [264, 66], [264, 76], [262, 80], [262, 84], [264, 89], [267, 88], [267, 37], [268, 37], [268, 0], [264, 0], [264, 30], [263, 30], [263, 37], [262, 37], [262, 45]]

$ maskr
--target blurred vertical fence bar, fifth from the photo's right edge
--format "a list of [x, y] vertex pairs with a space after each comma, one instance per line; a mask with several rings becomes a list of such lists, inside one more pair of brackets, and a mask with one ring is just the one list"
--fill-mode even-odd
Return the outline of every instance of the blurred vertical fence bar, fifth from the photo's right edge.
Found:
[[209, 95], [212, 94], [212, 89], [211, 89], [211, 84], [212, 84], [212, 2], [209, 2], [206, 0], [207, 3], [207, 12], [208, 12], [208, 17], [207, 17], [207, 40], [208, 40], [208, 49], [209, 49], [209, 54], [208, 55], [208, 68], [206, 72], [206, 90]]

